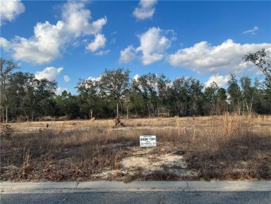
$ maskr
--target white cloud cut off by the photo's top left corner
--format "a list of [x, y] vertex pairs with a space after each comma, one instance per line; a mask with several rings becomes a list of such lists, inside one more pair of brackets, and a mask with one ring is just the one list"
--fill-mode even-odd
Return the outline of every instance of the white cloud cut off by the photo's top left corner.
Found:
[[0, 1], [0, 25], [4, 24], [5, 21], [12, 22], [18, 15], [24, 13], [24, 4], [18, 1]]

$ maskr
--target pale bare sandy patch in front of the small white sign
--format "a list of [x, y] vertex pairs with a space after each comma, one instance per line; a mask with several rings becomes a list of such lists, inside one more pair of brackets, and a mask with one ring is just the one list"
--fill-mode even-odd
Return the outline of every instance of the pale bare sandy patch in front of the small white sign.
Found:
[[96, 174], [95, 177], [107, 179], [114, 175], [149, 175], [157, 171], [165, 171], [174, 173], [176, 176], [192, 176], [198, 175], [197, 171], [188, 169], [186, 160], [179, 152], [158, 155], [157, 148], [130, 148], [131, 156], [120, 161], [120, 169], [113, 171], [103, 171]]

